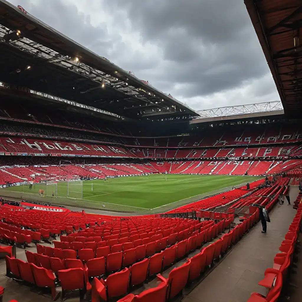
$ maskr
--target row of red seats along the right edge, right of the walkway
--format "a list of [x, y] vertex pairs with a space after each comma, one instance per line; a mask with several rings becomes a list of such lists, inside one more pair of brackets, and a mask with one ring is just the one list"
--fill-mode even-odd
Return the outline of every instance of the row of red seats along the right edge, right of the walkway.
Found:
[[258, 293], [252, 293], [248, 302], [273, 302], [277, 301], [286, 280], [290, 266], [294, 262], [294, 252], [297, 245], [298, 234], [301, 231], [302, 203], [299, 203], [297, 214], [289, 226], [288, 233], [279, 247], [281, 253], [277, 253], [274, 258], [272, 268], [264, 272], [264, 279], [258, 284], [269, 289], [266, 297]]

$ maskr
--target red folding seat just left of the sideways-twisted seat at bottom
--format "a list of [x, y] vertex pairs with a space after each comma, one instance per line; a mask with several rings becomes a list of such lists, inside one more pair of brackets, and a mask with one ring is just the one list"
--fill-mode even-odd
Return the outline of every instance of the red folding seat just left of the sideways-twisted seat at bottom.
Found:
[[88, 282], [88, 275], [82, 268], [69, 268], [58, 272], [62, 286], [62, 300], [65, 298], [66, 291], [80, 290], [80, 299], [86, 291], [90, 291], [91, 285]]

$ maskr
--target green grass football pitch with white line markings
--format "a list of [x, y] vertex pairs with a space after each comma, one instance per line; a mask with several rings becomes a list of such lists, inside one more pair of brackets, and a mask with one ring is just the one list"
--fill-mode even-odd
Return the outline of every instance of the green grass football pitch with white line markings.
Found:
[[[101, 210], [137, 212], [159, 207], [167, 210], [167, 207], [188, 204], [216, 194], [220, 189], [246, 184], [259, 178], [261, 177], [241, 175], [157, 174], [68, 182], [68, 185], [67, 182], [35, 184], [31, 189], [29, 184], [11, 186], [0, 189], [0, 196], [20, 195], [19, 198], [32, 201]], [[39, 196], [40, 189], [44, 190], [45, 197]]]

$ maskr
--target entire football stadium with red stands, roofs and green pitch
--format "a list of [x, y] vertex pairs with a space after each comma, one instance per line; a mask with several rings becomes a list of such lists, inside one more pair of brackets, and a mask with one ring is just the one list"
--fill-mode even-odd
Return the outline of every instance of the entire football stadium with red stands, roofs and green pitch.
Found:
[[196, 111], [0, 0], [0, 301], [300, 301], [302, 3], [244, 4], [280, 100]]

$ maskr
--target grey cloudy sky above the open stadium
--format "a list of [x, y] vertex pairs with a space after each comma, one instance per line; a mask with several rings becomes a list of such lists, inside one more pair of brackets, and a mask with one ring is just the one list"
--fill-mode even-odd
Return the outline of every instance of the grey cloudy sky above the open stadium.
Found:
[[243, 0], [9, 0], [195, 110], [280, 100]]

